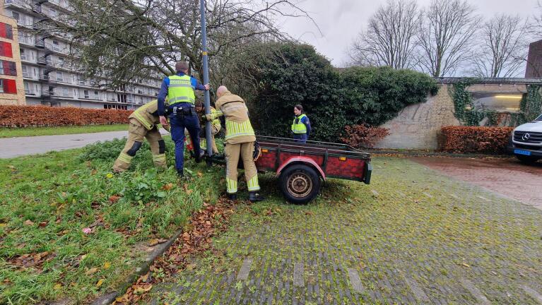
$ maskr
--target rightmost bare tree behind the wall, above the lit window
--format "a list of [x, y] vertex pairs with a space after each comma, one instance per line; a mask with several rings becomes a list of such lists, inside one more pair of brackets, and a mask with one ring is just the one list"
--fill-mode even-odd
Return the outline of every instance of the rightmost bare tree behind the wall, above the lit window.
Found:
[[473, 74], [479, 77], [517, 76], [527, 54], [527, 22], [519, 16], [495, 16], [483, 24]]

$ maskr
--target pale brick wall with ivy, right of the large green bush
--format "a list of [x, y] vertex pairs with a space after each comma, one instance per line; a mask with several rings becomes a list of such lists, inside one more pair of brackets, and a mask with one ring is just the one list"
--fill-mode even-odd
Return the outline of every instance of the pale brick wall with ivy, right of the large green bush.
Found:
[[[382, 127], [389, 128], [389, 136], [377, 148], [437, 149], [437, 135], [442, 126], [460, 125], [454, 116], [454, 101], [449, 86], [442, 84], [437, 95], [428, 101], [406, 107], [395, 119]], [[470, 92], [524, 93], [524, 84], [476, 84]]]

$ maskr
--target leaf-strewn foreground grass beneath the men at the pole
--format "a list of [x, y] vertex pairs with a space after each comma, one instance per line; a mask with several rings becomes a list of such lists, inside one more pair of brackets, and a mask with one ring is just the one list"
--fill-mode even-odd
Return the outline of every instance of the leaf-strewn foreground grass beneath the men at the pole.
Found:
[[170, 237], [204, 202], [216, 202], [221, 167], [190, 160], [195, 180], [177, 182], [174, 169], [153, 167], [145, 143], [131, 171], [113, 175], [123, 146], [113, 140], [0, 160], [0, 304], [88, 301], [134, 270], [136, 246]]

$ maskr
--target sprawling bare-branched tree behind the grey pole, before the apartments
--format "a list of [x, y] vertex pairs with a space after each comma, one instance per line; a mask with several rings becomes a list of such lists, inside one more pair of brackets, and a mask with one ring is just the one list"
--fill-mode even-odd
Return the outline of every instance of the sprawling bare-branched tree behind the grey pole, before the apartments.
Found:
[[[117, 87], [155, 71], [175, 73], [187, 60], [202, 75], [199, 0], [71, 0], [71, 13], [50, 20], [52, 29], [69, 32], [72, 55], [89, 78], [111, 80]], [[211, 71], [216, 60], [255, 40], [288, 39], [275, 26], [278, 17], [310, 16], [289, 0], [266, 4], [249, 0], [208, 0], [206, 18]], [[69, 20], [69, 21], [68, 21]], [[229, 55], [228, 55], [229, 56]]]

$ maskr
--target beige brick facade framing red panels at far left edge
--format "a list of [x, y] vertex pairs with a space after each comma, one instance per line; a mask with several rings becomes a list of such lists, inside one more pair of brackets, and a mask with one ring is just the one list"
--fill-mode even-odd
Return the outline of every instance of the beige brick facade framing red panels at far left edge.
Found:
[[[1, 6], [4, 7], [3, 5]], [[3, 15], [0, 15], [0, 22], [7, 23], [8, 25], [11, 25], [11, 28], [13, 28], [13, 40], [8, 40], [0, 37], [0, 41], [11, 43], [13, 58], [0, 56], [0, 59], [6, 61], [14, 61], [17, 68], [17, 76], [0, 75], [0, 78], [16, 80], [17, 84], [17, 94], [0, 93], [0, 105], [26, 104], [25, 87], [23, 83], [23, 68], [20, 64], [17, 22], [12, 18], [8, 18]]]

